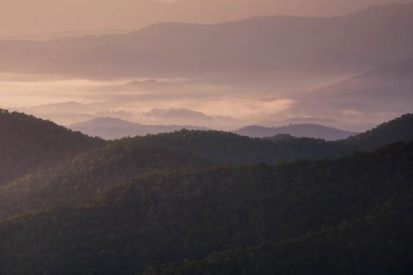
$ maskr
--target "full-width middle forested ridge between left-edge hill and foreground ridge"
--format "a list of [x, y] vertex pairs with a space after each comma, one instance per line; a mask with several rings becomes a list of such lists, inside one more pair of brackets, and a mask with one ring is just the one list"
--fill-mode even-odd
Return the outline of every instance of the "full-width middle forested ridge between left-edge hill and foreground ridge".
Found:
[[0, 187], [0, 218], [53, 206], [76, 206], [83, 200], [96, 198], [114, 181], [153, 170], [199, 168], [222, 162], [256, 164], [282, 159], [337, 158], [412, 138], [413, 115], [403, 115], [339, 142], [289, 135], [262, 140], [233, 133], [189, 130], [125, 138], [107, 142], [59, 166], [39, 168]]

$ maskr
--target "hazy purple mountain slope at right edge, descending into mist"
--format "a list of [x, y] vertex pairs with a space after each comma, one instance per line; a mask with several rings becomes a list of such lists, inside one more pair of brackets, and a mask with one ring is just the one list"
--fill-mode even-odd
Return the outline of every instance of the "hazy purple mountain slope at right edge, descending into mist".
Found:
[[[298, 108], [323, 104], [322, 113], [336, 117], [342, 112], [363, 115], [365, 119], [369, 113], [391, 116], [393, 113], [410, 112], [413, 102], [413, 58], [372, 69], [313, 92], [299, 101]], [[313, 109], [313, 112], [317, 110]]]

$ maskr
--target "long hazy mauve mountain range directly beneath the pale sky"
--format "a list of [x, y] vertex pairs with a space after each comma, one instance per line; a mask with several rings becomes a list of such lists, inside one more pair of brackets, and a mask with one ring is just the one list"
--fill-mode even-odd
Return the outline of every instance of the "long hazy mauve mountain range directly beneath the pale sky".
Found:
[[129, 34], [3, 41], [1, 72], [77, 76], [354, 74], [413, 56], [413, 4], [341, 17], [159, 23]]

